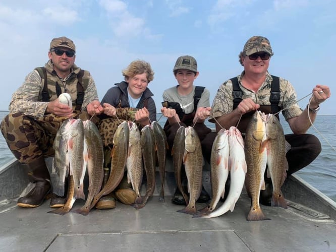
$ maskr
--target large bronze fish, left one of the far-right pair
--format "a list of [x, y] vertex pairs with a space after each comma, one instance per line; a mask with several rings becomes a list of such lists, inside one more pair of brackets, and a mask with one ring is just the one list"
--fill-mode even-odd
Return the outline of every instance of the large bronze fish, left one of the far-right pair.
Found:
[[265, 189], [264, 173], [266, 169], [266, 126], [262, 119], [264, 114], [256, 111], [246, 130], [245, 158], [247, 173], [245, 178], [246, 190], [251, 197], [251, 208], [247, 216], [248, 221], [268, 220], [263, 214], [259, 197], [260, 190]]

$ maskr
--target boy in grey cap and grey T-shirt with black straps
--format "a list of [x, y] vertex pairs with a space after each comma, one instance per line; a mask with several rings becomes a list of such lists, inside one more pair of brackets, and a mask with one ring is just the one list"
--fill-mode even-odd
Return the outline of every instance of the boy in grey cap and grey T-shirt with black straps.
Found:
[[[210, 92], [204, 87], [194, 86], [194, 80], [199, 75], [196, 59], [190, 55], [178, 57], [173, 73], [178, 85], [163, 92], [163, 107], [161, 108], [162, 114], [167, 117], [163, 130], [167, 136], [170, 150], [172, 150], [176, 132], [180, 126], [194, 126], [200, 140], [203, 140], [211, 132], [204, 124], [205, 119], [210, 115]], [[182, 169], [182, 184], [185, 187], [185, 193], [187, 193], [187, 179], [184, 169]], [[203, 203], [209, 199], [209, 195], [202, 187], [197, 202]], [[176, 188], [172, 202], [176, 205], [187, 204], [178, 188]]]

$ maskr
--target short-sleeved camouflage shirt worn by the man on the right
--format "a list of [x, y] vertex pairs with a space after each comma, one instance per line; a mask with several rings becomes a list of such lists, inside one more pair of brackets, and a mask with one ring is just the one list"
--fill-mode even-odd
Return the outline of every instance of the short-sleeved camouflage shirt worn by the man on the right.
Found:
[[[266, 79], [261, 87], [258, 89], [257, 93], [253, 92], [252, 90], [246, 89], [242, 83], [242, 77], [244, 76], [245, 72], [241, 75], [238, 75], [238, 83], [240, 88], [243, 91], [242, 99], [251, 98], [255, 103], [260, 105], [270, 105], [269, 97], [271, 91], [271, 82], [272, 77], [267, 72]], [[287, 119], [299, 116], [302, 113], [302, 109], [299, 107], [297, 101], [297, 95], [294, 87], [292, 84], [283, 79], [279, 78], [280, 84], [280, 101], [279, 107], [281, 109], [286, 108], [282, 111], [284, 117]], [[211, 112], [214, 117], [219, 117], [223, 114], [228, 114], [233, 110], [233, 87], [231, 80], [227, 80], [222, 85], [220, 85], [214, 99], [212, 102]]]

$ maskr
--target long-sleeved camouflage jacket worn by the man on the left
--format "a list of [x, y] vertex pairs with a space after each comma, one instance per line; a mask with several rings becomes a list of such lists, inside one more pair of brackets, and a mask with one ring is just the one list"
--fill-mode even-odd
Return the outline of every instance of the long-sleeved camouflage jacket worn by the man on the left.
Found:
[[[44, 67], [47, 72], [50, 101], [57, 99], [55, 92], [55, 82], [58, 82], [62, 93], [69, 93], [74, 102], [77, 99], [77, 74], [79, 73], [80, 68], [74, 65], [70, 75], [65, 79], [62, 79], [53, 70], [51, 60], [49, 60], [44, 65]], [[82, 111], [85, 111], [87, 104], [93, 100], [98, 100], [98, 94], [94, 80], [88, 71], [84, 71], [83, 82], [87, 83], [87, 85], [84, 87], [85, 95], [82, 104]], [[18, 90], [12, 95], [12, 100], [9, 105], [10, 113], [22, 112], [26, 115], [43, 119], [48, 105], [48, 102], [42, 101], [43, 85], [44, 81], [38, 74], [37, 70], [33, 70], [31, 73], [29, 73], [21, 87], [19, 87]]]

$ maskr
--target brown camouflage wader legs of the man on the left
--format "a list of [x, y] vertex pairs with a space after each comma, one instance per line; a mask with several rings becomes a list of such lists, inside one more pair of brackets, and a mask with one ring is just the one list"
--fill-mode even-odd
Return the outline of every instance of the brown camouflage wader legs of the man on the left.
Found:
[[[74, 118], [90, 118], [86, 112], [75, 112]], [[43, 120], [25, 115], [21, 112], [10, 113], [4, 117], [0, 128], [8, 147], [20, 163], [29, 163], [40, 157], [54, 155], [52, 148], [54, 138], [67, 117], [53, 114], [45, 115]], [[95, 116], [92, 121], [97, 123]]]

